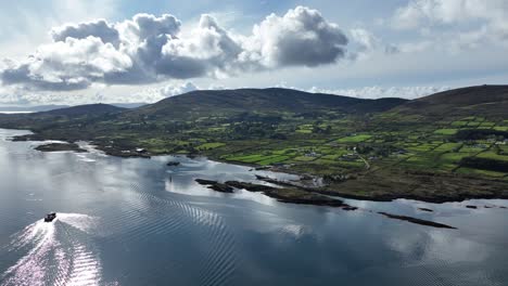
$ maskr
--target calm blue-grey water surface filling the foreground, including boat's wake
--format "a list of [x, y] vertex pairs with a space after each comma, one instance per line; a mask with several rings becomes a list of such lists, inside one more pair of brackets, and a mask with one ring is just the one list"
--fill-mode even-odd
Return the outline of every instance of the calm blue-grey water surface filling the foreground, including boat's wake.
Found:
[[[289, 174], [204, 158], [40, 153], [40, 142], [8, 140], [23, 133], [0, 130], [0, 285], [508, 285], [507, 200], [288, 205], [194, 179]], [[58, 219], [42, 222], [53, 210]]]

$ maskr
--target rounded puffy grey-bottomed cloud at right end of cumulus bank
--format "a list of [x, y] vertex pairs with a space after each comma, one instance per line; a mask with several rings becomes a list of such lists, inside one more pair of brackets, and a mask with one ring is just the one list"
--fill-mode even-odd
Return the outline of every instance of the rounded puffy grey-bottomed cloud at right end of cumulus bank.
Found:
[[344, 56], [347, 38], [338, 25], [304, 6], [269, 15], [254, 26], [244, 56], [266, 66], [317, 66]]

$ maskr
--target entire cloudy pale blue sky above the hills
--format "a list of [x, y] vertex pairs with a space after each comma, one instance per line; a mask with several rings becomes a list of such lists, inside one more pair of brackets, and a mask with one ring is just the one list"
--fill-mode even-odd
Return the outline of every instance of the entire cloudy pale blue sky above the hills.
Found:
[[508, 79], [506, 0], [0, 3], [0, 105], [195, 89], [415, 99]]

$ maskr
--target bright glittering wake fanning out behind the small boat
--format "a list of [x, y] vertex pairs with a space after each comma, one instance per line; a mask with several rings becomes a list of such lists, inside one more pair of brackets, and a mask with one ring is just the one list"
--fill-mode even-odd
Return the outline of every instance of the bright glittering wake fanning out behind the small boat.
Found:
[[88, 235], [94, 221], [58, 213], [51, 223], [39, 220], [14, 234], [1, 253], [16, 262], [1, 274], [0, 285], [99, 285], [101, 263]]

